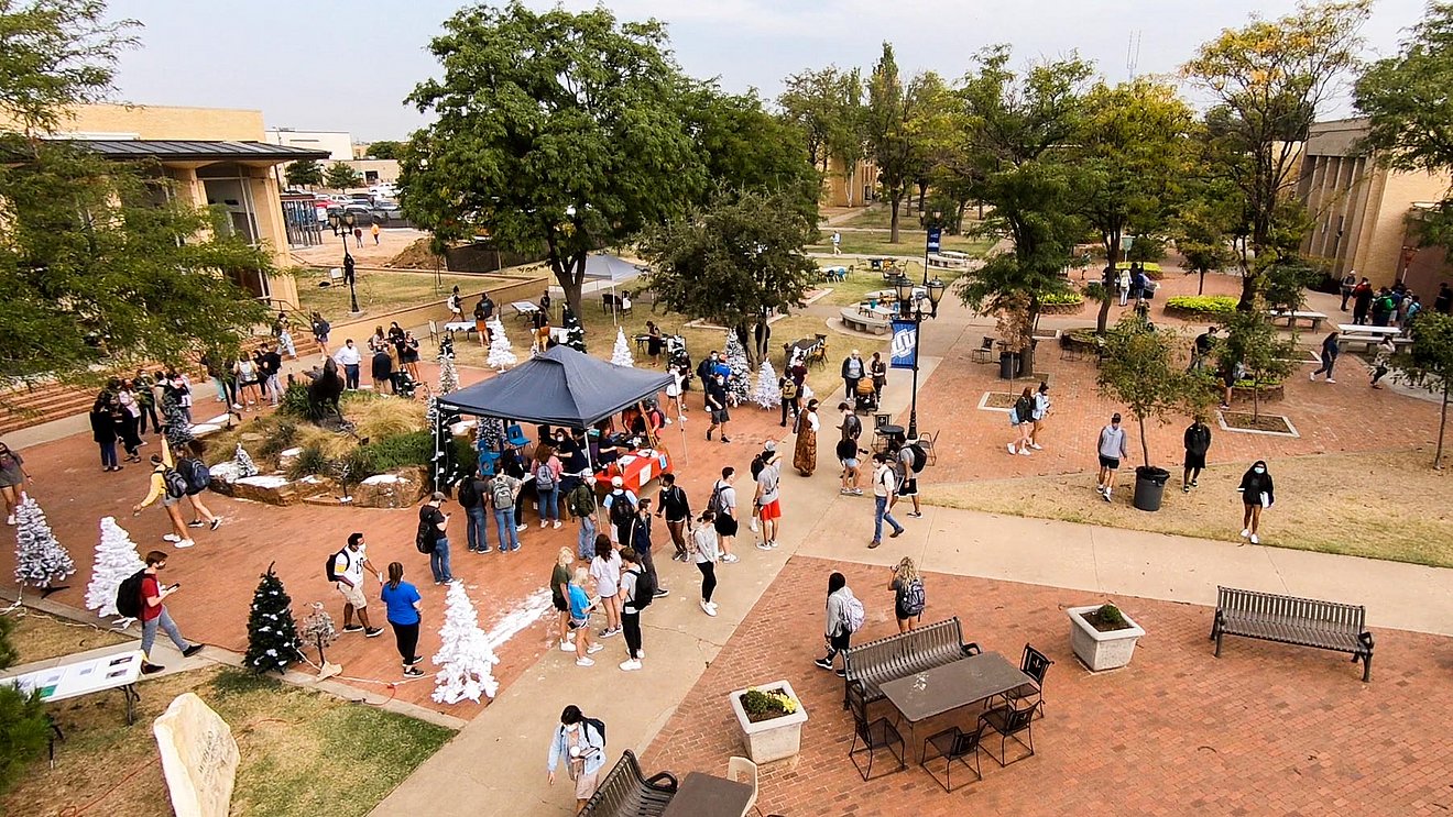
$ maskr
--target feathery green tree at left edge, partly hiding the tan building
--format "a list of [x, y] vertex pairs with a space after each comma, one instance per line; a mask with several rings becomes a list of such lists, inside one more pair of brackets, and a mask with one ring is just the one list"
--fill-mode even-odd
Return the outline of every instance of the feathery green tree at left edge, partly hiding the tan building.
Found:
[[224, 213], [167, 194], [157, 167], [36, 138], [108, 99], [132, 25], [87, 0], [0, 1], [0, 387], [180, 364], [264, 316], [230, 274], [270, 261]]

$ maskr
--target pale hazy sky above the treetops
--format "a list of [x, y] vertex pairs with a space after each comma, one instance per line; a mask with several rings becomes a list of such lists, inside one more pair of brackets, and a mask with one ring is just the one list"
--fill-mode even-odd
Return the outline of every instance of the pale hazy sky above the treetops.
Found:
[[[527, 0], [532, 7], [554, 3]], [[594, 1], [565, 0], [567, 9]], [[782, 78], [830, 64], [869, 68], [891, 41], [905, 74], [956, 78], [979, 48], [1008, 42], [1030, 61], [1078, 51], [1106, 78], [1173, 73], [1252, 10], [1292, 0], [610, 0], [620, 19], [668, 25], [677, 61], [724, 89], [772, 99]], [[119, 97], [139, 104], [260, 109], [267, 126], [400, 139], [424, 123], [402, 103], [437, 71], [426, 45], [459, 3], [449, 0], [112, 0], [139, 20], [141, 48], [121, 58]], [[1379, 0], [1364, 28], [1369, 55], [1396, 49], [1421, 0]], [[1345, 103], [1325, 115], [1345, 115]]]

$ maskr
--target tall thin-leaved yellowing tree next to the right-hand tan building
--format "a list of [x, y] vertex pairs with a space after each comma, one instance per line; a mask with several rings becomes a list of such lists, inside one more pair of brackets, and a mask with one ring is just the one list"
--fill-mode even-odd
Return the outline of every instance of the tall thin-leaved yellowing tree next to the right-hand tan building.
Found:
[[1276, 20], [1252, 19], [1202, 44], [1181, 73], [1213, 106], [1207, 136], [1218, 147], [1213, 168], [1244, 194], [1250, 221], [1241, 302], [1255, 308], [1266, 270], [1289, 255], [1279, 219], [1296, 184], [1302, 142], [1318, 109], [1357, 68], [1359, 30], [1372, 0], [1303, 1]]

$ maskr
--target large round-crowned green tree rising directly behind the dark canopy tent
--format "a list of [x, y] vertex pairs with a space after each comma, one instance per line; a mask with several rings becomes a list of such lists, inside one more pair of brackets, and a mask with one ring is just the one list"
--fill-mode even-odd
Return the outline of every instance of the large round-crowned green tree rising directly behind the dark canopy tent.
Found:
[[487, 234], [543, 254], [577, 313], [590, 251], [680, 215], [708, 186], [655, 20], [474, 6], [429, 49], [443, 73], [408, 96], [434, 123], [404, 154], [405, 213], [437, 242]]

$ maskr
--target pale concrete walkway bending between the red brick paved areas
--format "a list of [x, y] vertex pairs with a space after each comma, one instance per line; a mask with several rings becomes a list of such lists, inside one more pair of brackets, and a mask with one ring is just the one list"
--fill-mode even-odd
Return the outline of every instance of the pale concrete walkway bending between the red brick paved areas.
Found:
[[[926, 374], [937, 363], [924, 358]], [[905, 380], [889, 383], [886, 409], [907, 406]], [[744, 527], [741, 562], [718, 567], [719, 617], [708, 618], [696, 605], [693, 566], [660, 560], [663, 583], [674, 592], [644, 617], [642, 672], [616, 669], [625, 657], [619, 639], [606, 641], [590, 669], [575, 668], [574, 657], [558, 650], [545, 654], [373, 813], [570, 814], [568, 779], [559, 775], [551, 788], [545, 778], [559, 711], [575, 704], [604, 720], [612, 756], [644, 752], [793, 554], [885, 566], [907, 554], [924, 570], [1080, 589], [1088, 601], [1145, 596], [1210, 605], [1219, 583], [1364, 604], [1373, 627], [1453, 634], [1453, 570], [1434, 567], [930, 506], [921, 520], [899, 517], [908, 528], [904, 537], [867, 550], [872, 499], [838, 495], [831, 434], [824, 422], [815, 477], [783, 475], [782, 546], [758, 551]], [[924, 479], [933, 479], [933, 469]], [[819, 592], [817, 582], [802, 589]], [[819, 623], [801, 625], [815, 631]], [[670, 752], [660, 760], [679, 775], [690, 771], [673, 766]]]

